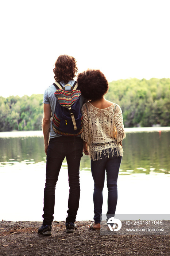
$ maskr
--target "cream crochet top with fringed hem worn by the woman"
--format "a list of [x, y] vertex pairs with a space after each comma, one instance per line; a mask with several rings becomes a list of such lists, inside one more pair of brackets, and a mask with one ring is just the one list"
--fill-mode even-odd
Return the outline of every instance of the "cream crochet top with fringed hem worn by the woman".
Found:
[[81, 138], [88, 143], [89, 157], [95, 161], [101, 159], [104, 150], [105, 157], [123, 156], [120, 143], [125, 139], [122, 111], [119, 105], [113, 103], [105, 109], [98, 109], [90, 102], [82, 106], [83, 128]]

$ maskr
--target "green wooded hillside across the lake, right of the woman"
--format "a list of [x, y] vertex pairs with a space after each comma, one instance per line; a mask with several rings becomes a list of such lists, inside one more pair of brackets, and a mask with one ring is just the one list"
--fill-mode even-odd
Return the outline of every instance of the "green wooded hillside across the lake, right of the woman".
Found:
[[113, 81], [106, 98], [121, 107], [125, 127], [170, 126], [169, 78]]

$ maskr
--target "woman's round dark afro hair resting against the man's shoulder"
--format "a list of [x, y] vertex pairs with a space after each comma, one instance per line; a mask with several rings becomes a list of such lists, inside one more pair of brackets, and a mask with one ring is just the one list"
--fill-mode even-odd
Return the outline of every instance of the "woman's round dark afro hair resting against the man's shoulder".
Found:
[[78, 74], [77, 82], [78, 89], [88, 100], [100, 99], [109, 89], [108, 81], [99, 69], [88, 69]]

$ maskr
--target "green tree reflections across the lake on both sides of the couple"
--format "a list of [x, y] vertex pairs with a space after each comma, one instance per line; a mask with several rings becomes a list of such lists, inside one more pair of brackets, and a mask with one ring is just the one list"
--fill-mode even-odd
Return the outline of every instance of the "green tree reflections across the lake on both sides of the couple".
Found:
[[[30, 133], [31, 134], [31, 133]], [[120, 175], [170, 172], [170, 132], [127, 133]], [[0, 166], [45, 163], [43, 137], [0, 138]], [[63, 168], [67, 168], [66, 159]], [[81, 170], [90, 171], [90, 159], [83, 156]]]

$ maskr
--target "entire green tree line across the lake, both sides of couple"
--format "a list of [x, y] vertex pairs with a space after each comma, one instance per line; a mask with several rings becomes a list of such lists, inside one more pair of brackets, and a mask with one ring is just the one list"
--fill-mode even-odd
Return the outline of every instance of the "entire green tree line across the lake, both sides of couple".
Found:
[[[170, 79], [125, 79], [109, 83], [105, 98], [117, 103], [125, 127], [170, 126]], [[0, 131], [41, 130], [43, 94], [0, 97]]]

